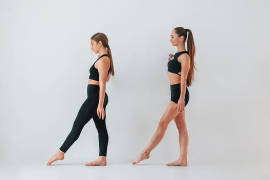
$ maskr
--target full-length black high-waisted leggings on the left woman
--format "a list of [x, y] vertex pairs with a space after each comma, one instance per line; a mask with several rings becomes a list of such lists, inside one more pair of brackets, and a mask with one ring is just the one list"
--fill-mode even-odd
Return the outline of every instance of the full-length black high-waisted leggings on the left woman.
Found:
[[[84, 125], [93, 118], [96, 128], [98, 130], [98, 141], [99, 141], [99, 155], [107, 155], [108, 146], [108, 133], [106, 129], [106, 113], [104, 120], [99, 119], [97, 115], [97, 107], [99, 102], [99, 85], [88, 84], [87, 86], [87, 99], [82, 104], [78, 115], [74, 121], [73, 127], [68, 134], [65, 142], [61, 146], [60, 150], [66, 152], [71, 145], [79, 138]], [[105, 93], [104, 98], [104, 110], [108, 103], [108, 96]]]

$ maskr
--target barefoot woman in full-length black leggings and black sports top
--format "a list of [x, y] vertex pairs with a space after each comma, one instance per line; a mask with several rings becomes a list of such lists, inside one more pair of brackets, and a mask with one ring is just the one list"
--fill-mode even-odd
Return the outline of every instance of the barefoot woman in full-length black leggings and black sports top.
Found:
[[84, 125], [93, 118], [98, 130], [99, 157], [85, 166], [106, 166], [108, 133], [106, 129], [105, 107], [108, 96], [105, 93], [106, 82], [110, 75], [114, 76], [114, 66], [108, 39], [103, 33], [96, 33], [91, 38], [91, 49], [99, 54], [99, 58], [89, 69], [90, 75], [87, 86], [87, 99], [82, 104], [74, 121], [71, 132], [60, 149], [49, 159], [47, 165], [56, 160], [64, 159], [66, 151], [79, 138]]

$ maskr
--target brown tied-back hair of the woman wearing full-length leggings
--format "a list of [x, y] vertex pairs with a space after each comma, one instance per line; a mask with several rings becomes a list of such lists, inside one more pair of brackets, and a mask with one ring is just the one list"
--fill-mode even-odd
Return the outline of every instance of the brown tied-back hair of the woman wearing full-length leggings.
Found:
[[112, 52], [111, 52], [111, 48], [109, 46], [109, 40], [107, 38], [107, 36], [104, 33], [98, 32], [95, 33], [92, 37], [92, 40], [96, 41], [96, 42], [100, 42], [102, 43], [102, 45], [104, 47], [107, 48], [108, 54], [109, 54], [109, 58], [110, 58], [110, 69], [109, 69], [109, 73], [114, 76], [114, 64], [113, 64], [113, 57], [112, 57]]

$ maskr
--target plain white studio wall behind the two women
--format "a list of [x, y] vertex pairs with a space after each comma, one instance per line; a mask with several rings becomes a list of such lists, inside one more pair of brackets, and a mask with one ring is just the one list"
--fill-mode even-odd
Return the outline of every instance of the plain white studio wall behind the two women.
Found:
[[[109, 38], [115, 76], [107, 83], [109, 163], [131, 162], [147, 145], [170, 101], [171, 30], [193, 31], [195, 81], [186, 107], [189, 160], [269, 160], [268, 1], [0, 1], [0, 162], [46, 164], [86, 98], [97, 55], [90, 38]], [[171, 122], [151, 160], [179, 154]], [[66, 153], [98, 156], [88, 122]], [[60, 162], [59, 162], [60, 163]]]

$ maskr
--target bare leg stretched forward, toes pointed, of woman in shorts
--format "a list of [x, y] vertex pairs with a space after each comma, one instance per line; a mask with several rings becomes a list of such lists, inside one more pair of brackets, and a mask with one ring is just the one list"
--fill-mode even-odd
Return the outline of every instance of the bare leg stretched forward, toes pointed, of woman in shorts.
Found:
[[158, 145], [158, 143], [163, 139], [165, 131], [168, 127], [168, 124], [171, 122], [173, 118], [175, 118], [178, 114], [178, 111], [176, 109], [177, 104], [174, 102], [170, 102], [168, 105], [166, 111], [164, 112], [163, 116], [161, 117], [157, 130], [150, 140], [147, 147], [136, 157], [132, 164], [135, 165], [139, 163], [139, 161], [143, 159], [148, 159], [150, 157], [150, 152]]

